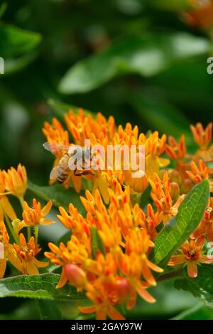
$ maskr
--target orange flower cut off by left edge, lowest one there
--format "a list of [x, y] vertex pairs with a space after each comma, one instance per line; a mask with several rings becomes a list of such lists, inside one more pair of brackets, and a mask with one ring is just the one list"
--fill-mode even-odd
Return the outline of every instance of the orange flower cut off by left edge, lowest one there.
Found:
[[6, 270], [6, 261], [8, 260], [16, 267], [19, 271], [21, 271], [21, 262], [18, 259], [16, 252], [13, 249], [13, 246], [9, 244], [9, 234], [6, 230], [4, 222], [0, 222], [0, 246], [1, 251], [4, 253], [3, 257], [0, 257], [0, 279], [4, 277], [4, 273]]

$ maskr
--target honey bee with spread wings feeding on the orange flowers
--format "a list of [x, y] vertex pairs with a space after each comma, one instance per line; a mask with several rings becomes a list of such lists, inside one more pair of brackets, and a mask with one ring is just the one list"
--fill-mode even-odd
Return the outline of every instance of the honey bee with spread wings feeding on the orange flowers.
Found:
[[[62, 151], [62, 158], [50, 172], [50, 180], [57, 179], [58, 183], [65, 183], [70, 176], [70, 170], [74, 171], [75, 176], [94, 175], [91, 168], [86, 168], [88, 163], [91, 163], [91, 149], [89, 147], [83, 149], [78, 145], [65, 146], [62, 144], [48, 143], [43, 144], [43, 147], [53, 154]], [[72, 158], [70, 163], [70, 158]], [[82, 166], [77, 168], [77, 163], [82, 159]], [[89, 164], [90, 166], [90, 164]]]

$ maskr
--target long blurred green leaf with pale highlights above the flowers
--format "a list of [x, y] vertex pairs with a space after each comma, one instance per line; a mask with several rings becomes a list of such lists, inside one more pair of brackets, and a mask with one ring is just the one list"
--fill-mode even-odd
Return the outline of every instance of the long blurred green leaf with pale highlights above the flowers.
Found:
[[209, 48], [206, 38], [189, 33], [144, 33], [116, 41], [73, 65], [62, 77], [59, 90], [65, 94], [89, 92], [126, 73], [151, 77], [179, 60], [207, 53]]

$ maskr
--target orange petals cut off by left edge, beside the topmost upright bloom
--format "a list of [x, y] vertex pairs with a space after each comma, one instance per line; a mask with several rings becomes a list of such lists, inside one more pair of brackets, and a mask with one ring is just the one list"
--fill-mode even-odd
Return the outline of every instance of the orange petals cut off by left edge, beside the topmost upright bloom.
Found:
[[0, 220], [4, 219], [4, 215], [7, 215], [11, 220], [16, 219], [16, 213], [6, 197], [6, 181], [3, 171], [0, 171]]

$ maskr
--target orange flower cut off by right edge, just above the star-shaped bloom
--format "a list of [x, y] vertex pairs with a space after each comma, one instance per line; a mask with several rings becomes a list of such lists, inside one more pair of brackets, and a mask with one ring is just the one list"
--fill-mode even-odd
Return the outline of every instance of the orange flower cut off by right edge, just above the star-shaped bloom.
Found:
[[210, 242], [213, 242], [213, 198], [209, 198], [204, 217], [195, 232], [192, 233], [191, 238], [196, 239], [200, 235], [204, 235]]

